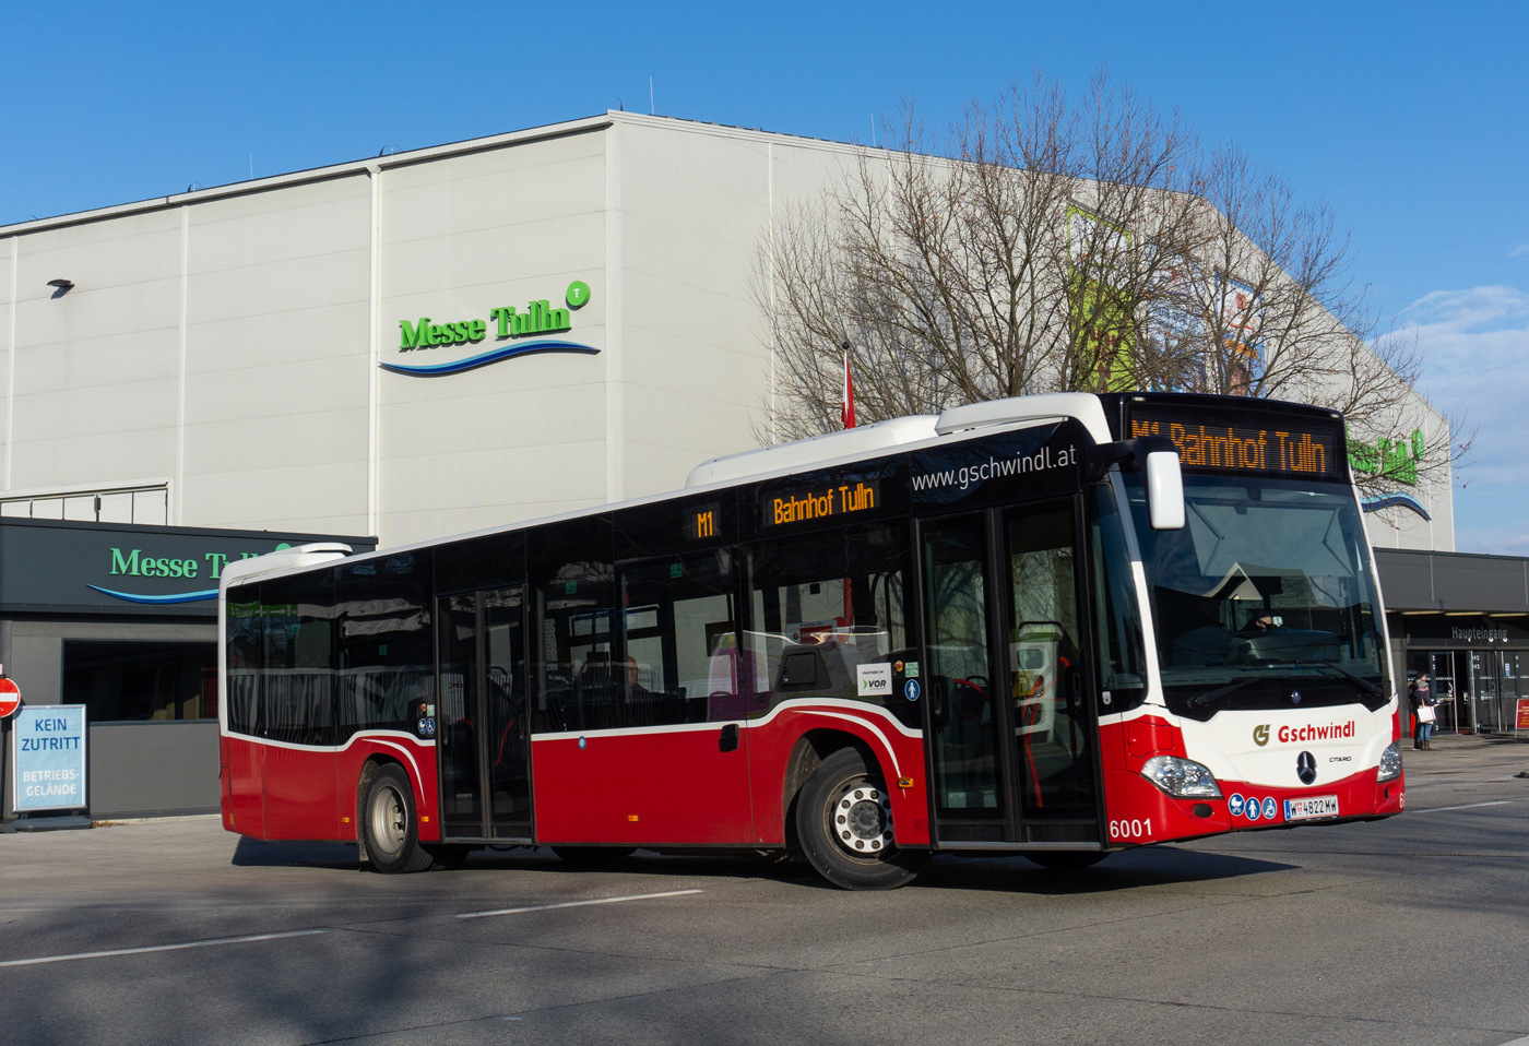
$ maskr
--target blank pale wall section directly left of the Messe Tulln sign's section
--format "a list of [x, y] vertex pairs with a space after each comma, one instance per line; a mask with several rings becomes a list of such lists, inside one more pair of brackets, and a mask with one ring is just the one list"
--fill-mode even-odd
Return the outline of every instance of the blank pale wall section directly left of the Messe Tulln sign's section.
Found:
[[187, 211], [177, 521], [365, 534], [368, 179]]

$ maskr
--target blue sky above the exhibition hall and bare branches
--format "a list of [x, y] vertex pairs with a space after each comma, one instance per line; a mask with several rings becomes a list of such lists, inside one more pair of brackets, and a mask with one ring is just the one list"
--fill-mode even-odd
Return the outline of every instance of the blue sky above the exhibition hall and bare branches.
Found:
[[1529, 555], [1529, 5], [6, 5], [0, 223], [624, 104], [833, 139], [1105, 67], [1327, 200], [1480, 436], [1462, 551]]

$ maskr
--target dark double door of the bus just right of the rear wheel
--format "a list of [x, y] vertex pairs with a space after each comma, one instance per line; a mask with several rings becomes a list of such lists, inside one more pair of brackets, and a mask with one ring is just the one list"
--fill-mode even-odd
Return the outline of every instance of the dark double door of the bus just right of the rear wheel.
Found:
[[440, 824], [451, 840], [531, 840], [524, 590], [440, 596]]

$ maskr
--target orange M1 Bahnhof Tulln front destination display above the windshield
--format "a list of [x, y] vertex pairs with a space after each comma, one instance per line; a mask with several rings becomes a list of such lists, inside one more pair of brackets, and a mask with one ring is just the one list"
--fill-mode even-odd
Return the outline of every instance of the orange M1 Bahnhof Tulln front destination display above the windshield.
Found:
[[[1260, 419], [1261, 421], [1261, 419]], [[1237, 425], [1133, 410], [1130, 437], [1167, 436], [1179, 448], [1185, 468], [1275, 476], [1342, 477], [1341, 428], [1320, 421], [1271, 417], [1268, 424]]]

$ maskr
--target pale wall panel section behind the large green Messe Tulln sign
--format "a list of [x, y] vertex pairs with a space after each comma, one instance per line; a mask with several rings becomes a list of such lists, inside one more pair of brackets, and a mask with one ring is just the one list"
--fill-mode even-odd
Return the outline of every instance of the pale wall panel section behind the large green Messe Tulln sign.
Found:
[[[566, 335], [607, 346], [604, 135], [581, 133], [382, 173], [381, 358], [436, 364], [495, 344], [399, 352], [399, 321], [590, 303]], [[387, 544], [605, 500], [605, 362], [532, 355], [442, 378], [379, 375]]]

